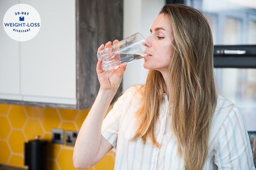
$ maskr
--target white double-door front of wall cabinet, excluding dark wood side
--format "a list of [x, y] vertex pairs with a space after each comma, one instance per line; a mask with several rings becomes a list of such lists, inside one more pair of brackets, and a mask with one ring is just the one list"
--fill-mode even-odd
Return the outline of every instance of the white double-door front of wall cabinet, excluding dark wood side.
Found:
[[[4, 16], [18, 1], [0, 3]], [[20, 0], [19, 3], [37, 9], [41, 28], [33, 39], [18, 42], [0, 27], [0, 98], [75, 105], [75, 0], [65, 3], [61, 0]]]

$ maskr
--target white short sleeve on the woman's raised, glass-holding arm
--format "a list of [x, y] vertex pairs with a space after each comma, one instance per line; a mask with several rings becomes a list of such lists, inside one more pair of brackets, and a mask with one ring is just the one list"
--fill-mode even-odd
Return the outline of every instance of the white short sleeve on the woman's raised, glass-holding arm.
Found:
[[[129, 100], [132, 100], [135, 87], [127, 89], [122, 96], [120, 96], [113, 105], [113, 108], [108, 112], [102, 123], [101, 135], [114, 147], [117, 145], [117, 136], [119, 130], [119, 123], [122, 114], [124, 114], [124, 108]], [[115, 150], [114, 150], [115, 151]]]

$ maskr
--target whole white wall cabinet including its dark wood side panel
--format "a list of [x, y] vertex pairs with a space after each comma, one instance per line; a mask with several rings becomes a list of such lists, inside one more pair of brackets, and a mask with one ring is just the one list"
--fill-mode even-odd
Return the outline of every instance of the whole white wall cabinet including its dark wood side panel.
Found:
[[100, 87], [97, 49], [123, 38], [123, 1], [0, 0], [0, 14], [18, 3], [38, 11], [41, 28], [18, 42], [0, 27], [0, 103], [90, 108]]

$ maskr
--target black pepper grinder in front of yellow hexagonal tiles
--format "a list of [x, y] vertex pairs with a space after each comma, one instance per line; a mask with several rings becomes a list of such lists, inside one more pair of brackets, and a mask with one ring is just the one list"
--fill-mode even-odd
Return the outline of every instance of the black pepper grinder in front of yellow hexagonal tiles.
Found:
[[28, 165], [28, 170], [47, 170], [47, 141], [39, 140], [35, 135], [35, 140], [25, 143], [24, 164]]

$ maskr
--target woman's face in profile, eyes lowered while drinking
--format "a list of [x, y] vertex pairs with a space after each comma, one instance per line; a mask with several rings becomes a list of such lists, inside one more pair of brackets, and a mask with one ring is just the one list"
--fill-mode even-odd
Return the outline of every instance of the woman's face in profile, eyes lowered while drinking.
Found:
[[158, 15], [151, 29], [151, 35], [146, 38], [150, 48], [150, 54], [144, 57], [144, 68], [167, 71], [171, 62], [171, 42], [173, 33], [171, 24], [167, 22], [164, 14]]

